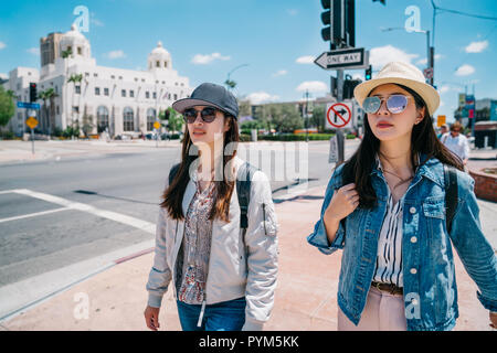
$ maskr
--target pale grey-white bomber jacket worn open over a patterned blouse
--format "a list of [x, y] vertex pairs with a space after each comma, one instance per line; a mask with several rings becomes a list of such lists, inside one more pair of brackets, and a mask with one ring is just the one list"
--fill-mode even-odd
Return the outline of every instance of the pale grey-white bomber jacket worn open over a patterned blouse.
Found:
[[[232, 161], [236, 171], [244, 163], [239, 157], [234, 157]], [[194, 193], [195, 184], [190, 180], [183, 196], [183, 214], [187, 214]], [[269, 319], [274, 304], [278, 229], [271, 184], [265, 173], [256, 171], [252, 176], [245, 239], [240, 228], [236, 188], [230, 201], [229, 218], [229, 223], [220, 220], [212, 223], [205, 303], [245, 297], [244, 330], [262, 329], [262, 324]], [[150, 307], [160, 308], [171, 280], [175, 298], [178, 297], [175, 280], [183, 232], [184, 221], [172, 220], [167, 210], [160, 207], [154, 266], [146, 286]]]

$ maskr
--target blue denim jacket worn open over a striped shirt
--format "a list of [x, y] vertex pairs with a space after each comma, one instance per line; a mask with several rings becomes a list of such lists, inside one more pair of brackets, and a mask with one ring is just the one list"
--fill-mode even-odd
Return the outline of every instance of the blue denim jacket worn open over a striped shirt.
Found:
[[[425, 159], [421, 156], [421, 162]], [[389, 190], [382, 172], [373, 168], [370, 176], [378, 197], [377, 206], [356, 208], [340, 222], [336, 237], [329, 244], [322, 216], [334, 191], [342, 186], [342, 167], [335, 170], [328, 183], [320, 220], [307, 242], [326, 255], [343, 250], [338, 306], [357, 325], [373, 278]], [[445, 225], [443, 164], [437, 159], [432, 158], [417, 169], [405, 192], [402, 275], [409, 331], [444, 331], [455, 325], [457, 286], [451, 240], [478, 286], [478, 300], [486, 309], [497, 311], [497, 257], [482, 233], [473, 189], [474, 180], [457, 171], [458, 200], [450, 234]]]

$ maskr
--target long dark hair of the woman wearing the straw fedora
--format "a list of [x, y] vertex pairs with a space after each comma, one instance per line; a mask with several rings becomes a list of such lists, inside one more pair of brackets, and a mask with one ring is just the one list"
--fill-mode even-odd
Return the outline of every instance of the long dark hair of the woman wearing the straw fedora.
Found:
[[[451, 152], [436, 137], [433, 128], [433, 117], [427, 114], [427, 107], [423, 98], [413, 89], [396, 84], [409, 92], [413, 97], [416, 109], [425, 107], [425, 117], [420, 124], [414, 125], [411, 135], [411, 162], [415, 165], [417, 153], [426, 154], [424, 162], [431, 158], [438, 159], [442, 163], [453, 165], [458, 170], [464, 170], [461, 159]], [[371, 93], [370, 93], [371, 94]], [[342, 171], [342, 183], [355, 183], [359, 194], [359, 206], [372, 208], [377, 204], [377, 194], [371, 184], [370, 173], [372, 171], [377, 152], [379, 152], [380, 140], [374, 136], [369, 126], [368, 117], [364, 114], [364, 136], [356, 153], [345, 162]], [[424, 163], [423, 162], [423, 163]]]

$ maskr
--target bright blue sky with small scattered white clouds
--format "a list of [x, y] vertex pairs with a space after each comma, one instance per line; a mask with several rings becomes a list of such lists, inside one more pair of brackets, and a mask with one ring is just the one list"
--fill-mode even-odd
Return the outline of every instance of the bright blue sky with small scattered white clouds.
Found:
[[[435, 0], [437, 7], [497, 18], [495, 0]], [[190, 78], [222, 84], [232, 69], [235, 94], [255, 101], [302, 99], [329, 89], [329, 76], [313, 63], [329, 49], [320, 38], [320, 0], [101, 0], [1, 1], [0, 74], [15, 66], [40, 66], [39, 41], [66, 32], [77, 6], [89, 10], [89, 31], [98, 65], [145, 69], [158, 41], [173, 68]], [[370, 51], [373, 76], [387, 62], [404, 60], [424, 68], [426, 36], [404, 30], [409, 6], [420, 9], [421, 30], [432, 30], [430, 0], [356, 0], [356, 46]], [[435, 24], [436, 111], [452, 120], [457, 93], [475, 87], [476, 98], [497, 98], [497, 21], [443, 12]], [[349, 72], [363, 77], [363, 69]], [[304, 90], [303, 90], [304, 89]]]

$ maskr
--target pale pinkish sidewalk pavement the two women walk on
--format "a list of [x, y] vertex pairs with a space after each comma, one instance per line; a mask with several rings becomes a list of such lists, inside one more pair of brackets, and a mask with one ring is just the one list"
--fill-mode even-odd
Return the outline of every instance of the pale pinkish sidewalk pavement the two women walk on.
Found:
[[[341, 252], [326, 256], [306, 242], [319, 215], [324, 192], [325, 186], [310, 189], [305, 195], [275, 205], [281, 224], [279, 272], [275, 307], [265, 330], [337, 329]], [[495, 220], [495, 204], [490, 204], [489, 212]], [[456, 252], [454, 255], [459, 304], [455, 330], [491, 330], [488, 311], [476, 299], [477, 287], [464, 270]], [[145, 285], [152, 258], [150, 249], [120, 259], [108, 270], [0, 323], [0, 330], [148, 330], [142, 313], [147, 303]], [[82, 298], [89, 302], [87, 318], [81, 318]], [[162, 301], [159, 317], [160, 330], [180, 330], [171, 290]]]

